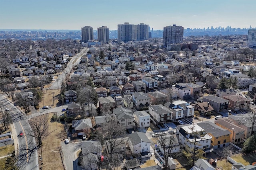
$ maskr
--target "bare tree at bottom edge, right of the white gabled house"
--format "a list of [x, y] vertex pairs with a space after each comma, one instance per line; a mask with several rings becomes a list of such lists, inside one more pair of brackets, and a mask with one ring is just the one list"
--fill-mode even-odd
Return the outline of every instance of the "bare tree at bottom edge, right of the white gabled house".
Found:
[[158, 145], [163, 149], [164, 151], [164, 169], [168, 169], [168, 158], [171, 157], [173, 148], [175, 147], [176, 144], [179, 145], [178, 139], [176, 138], [176, 134], [171, 134], [170, 136], [164, 136], [160, 135], [156, 139]]

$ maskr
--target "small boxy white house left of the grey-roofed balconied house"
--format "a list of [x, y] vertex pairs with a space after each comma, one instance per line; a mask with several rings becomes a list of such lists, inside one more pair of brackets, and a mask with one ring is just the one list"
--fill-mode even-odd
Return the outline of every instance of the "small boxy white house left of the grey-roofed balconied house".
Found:
[[138, 127], [145, 128], [150, 126], [150, 115], [146, 111], [134, 111], [133, 114]]

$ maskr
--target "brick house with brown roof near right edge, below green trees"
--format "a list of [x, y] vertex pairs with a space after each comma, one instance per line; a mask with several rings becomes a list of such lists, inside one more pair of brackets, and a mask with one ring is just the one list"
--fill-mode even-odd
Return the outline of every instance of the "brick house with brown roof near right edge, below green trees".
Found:
[[247, 111], [250, 108], [250, 100], [240, 95], [223, 96], [222, 98], [229, 101], [228, 109], [237, 111], [244, 109]]

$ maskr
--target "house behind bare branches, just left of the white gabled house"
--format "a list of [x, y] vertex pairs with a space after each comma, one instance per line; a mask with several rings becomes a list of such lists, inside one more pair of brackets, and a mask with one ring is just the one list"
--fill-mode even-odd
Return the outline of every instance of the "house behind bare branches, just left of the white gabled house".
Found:
[[118, 158], [124, 159], [126, 158], [126, 143], [123, 138], [118, 138], [115, 141], [116, 147], [111, 151], [109, 141], [106, 141], [106, 151], [108, 155], [113, 154]]

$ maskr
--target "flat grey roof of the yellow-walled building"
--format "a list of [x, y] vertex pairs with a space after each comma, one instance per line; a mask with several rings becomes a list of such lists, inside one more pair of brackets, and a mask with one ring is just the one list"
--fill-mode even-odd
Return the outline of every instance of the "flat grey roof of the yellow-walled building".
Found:
[[223, 129], [210, 121], [205, 121], [197, 124], [198, 126], [202, 127], [207, 133], [212, 134], [214, 137], [231, 134], [230, 131]]

